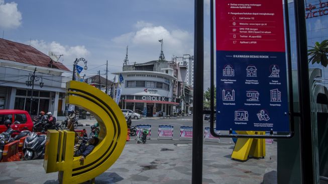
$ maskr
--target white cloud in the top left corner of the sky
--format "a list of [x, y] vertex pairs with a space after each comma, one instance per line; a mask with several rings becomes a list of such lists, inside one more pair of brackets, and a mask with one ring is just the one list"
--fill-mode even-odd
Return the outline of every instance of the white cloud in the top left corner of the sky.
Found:
[[22, 14], [17, 9], [17, 3], [6, 3], [0, 0], [0, 28], [15, 29], [22, 24]]

